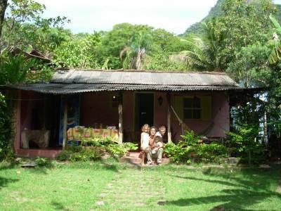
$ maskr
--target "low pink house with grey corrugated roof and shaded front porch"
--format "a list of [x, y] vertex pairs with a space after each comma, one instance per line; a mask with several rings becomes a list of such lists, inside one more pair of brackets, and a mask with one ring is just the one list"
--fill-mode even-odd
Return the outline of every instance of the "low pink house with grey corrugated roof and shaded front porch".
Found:
[[145, 123], [165, 125], [168, 141], [181, 139], [184, 126], [221, 139], [230, 129], [230, 93], [240, 90], [222, 72], [133, 70], [58, 70], [49, 83], [8, 88], [18, 93], [16, 153], [41, 157], [59, 153], [75, 125], [116, 127], [120, 143], [138, 143]]

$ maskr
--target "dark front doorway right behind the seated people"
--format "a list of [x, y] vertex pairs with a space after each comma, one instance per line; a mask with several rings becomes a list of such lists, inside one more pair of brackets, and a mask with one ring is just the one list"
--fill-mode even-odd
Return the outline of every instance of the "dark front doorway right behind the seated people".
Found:
[[143, 124], [154, 124], [154, 94], [136, 94], [135, 129], [141, 132]]

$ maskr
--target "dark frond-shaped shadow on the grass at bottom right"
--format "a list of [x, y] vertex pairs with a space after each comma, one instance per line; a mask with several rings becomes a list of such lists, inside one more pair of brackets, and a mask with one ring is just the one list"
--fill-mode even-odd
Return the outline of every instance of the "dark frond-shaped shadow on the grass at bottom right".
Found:
[[[178, 200], [166, 201], [166, 205], [176, 205], [180, 207], [203, 205], [209, 203], [222, 203], [219, 207], [223, 210], [244, 210], [245, 207], [255, 205], [268, 198], [275, 197], [281, 200], [281, 193], [271, 190], [271, 184], [280, 178], [280, 167], [271, 170], [261, 169], [242, 169], [237, 174], [229, 174], [229, 172], [216, 169], [202, 170], [205, 177], [182, 177], [176, 174], [171, 174], [171, 177], [181, 179], [191, 179], [197, 181], [210, 182], [231, 188], [222, 189], [214, 196], [197, 197], [197, 198], [180, 198]], [[214, 178], [214, 179], [213, 179]], [[233, 182], [226, 181], [231, 179]], [[214, 207], [216, 210], [216, 207]]]

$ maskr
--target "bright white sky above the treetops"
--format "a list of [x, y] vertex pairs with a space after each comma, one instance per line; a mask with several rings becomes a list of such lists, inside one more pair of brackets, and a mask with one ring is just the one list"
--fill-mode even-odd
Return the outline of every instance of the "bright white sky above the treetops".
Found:
[[[65, 27], [78, 32], [111, 30], [117, 23], [150, 25], [181, 34], [204, 18], [216, 0], [36, 0], [46, 17], [66, 16]], [[275, 0], [281, 4], [281, 0]]]

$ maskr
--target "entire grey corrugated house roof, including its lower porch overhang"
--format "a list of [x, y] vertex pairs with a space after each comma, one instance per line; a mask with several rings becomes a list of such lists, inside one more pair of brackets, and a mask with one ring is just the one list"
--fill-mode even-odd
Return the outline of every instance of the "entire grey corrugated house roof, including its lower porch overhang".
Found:
[[214, 72], [137, 72], [60, 70], [48, 84], [8, 87], [46, 94], [77, 94], [89, 91], [155, 90], [195, 91], [240, 89], [226, 74]]

